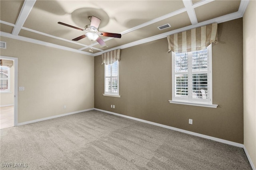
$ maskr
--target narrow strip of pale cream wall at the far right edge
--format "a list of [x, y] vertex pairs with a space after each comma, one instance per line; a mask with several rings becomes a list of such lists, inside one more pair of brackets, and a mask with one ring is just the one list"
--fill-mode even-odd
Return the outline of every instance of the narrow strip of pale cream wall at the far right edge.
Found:
[[256, 1], [250, 1], [244, 27], [244, 146], [256, 167]]

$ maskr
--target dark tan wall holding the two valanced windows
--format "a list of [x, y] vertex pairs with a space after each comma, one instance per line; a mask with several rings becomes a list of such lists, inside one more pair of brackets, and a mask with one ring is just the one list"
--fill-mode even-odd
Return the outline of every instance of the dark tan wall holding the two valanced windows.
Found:
[[220, 43], [212, 46], [213, 104], [218, 108], [168, 102], [172, 68], [166, 38], [121, 50], [121, 98], [102, 95], [104, 65], [101, 56], [95, 57], [95, 108], [243, 143], [242, 19], [221, 23], [218, 29]]

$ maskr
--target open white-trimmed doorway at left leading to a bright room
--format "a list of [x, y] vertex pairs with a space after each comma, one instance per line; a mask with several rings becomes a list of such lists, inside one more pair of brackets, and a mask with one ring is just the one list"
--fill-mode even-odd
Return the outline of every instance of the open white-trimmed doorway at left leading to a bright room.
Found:
[[17, 65], [14, 57], [0, 57], [0, 129], [17, 125]]

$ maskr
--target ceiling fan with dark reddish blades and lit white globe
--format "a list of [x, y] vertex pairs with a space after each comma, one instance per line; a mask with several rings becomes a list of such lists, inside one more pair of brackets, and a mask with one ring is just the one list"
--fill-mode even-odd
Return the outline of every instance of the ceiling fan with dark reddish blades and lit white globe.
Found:
[[114, 37], [114, 38], [121, 38], [121, 34], [119, 33], [106, 33], [106, 32], [100, 32], [99, 31], [99, 25], [100, 25], [100, 19], [95, 17], [95, 16], [89, 16], [88, 19], [91, 21], [91, 25], [86, 25], [84, 29], [74, 27], [72, 25], [68, 25], [63, 22], [58, 22], [61, 25], [65, 25], [71, 28], [75, 28], [81, 31], [85, 31], [86, 33], [84, 35], [81, 35], [79, 37], [76, 37], [72, 39], [73, 41], [78, 41], [80, 39], [83, 39], [85, 37], [88, 37], [90, 41], [97, 41], [100, 45], [106, 45], [106, 43], [103, 41], [103, 39], [100, 38], [100, 36], [105, 36], [105, 37]]

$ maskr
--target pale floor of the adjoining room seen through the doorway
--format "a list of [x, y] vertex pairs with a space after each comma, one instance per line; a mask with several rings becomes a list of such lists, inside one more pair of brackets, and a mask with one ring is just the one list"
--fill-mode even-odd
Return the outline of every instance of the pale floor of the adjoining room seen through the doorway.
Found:
[[0, 129], [14, 126], [14, 106], [0, 107]]

